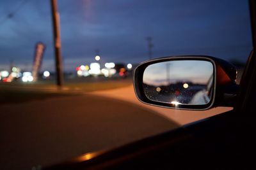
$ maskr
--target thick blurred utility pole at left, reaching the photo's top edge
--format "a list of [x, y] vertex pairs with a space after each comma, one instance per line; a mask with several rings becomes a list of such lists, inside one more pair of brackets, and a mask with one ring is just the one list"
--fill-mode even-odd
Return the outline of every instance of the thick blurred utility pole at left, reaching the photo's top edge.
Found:
[[57, 0], [51, 0], [52, 7], [52, 26], [54, 36], [54, 50], [55, 50], [55, 67], [57, 76], [57, 85], [63, 85], [62, 61], [61, 61], [61, 39], [60, 39], [60, 15], [57, 8]]

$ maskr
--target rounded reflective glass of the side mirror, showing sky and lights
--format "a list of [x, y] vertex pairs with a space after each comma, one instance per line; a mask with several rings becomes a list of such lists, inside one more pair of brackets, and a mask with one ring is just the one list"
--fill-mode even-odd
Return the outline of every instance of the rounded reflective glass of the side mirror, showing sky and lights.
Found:
[[172, 60], [146, 67], [143, 90], [148, 99], [171, 104], [211, 101], [214, 67], [205, 60]]

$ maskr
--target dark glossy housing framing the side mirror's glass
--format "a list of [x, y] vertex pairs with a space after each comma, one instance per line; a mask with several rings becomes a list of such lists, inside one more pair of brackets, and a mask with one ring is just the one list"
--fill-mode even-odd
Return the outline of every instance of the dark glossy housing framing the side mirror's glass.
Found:
[[[183, 103], [166, 103], [161, 100], [154, 100], [148, 97], [148, 94], [145, 92], [145, 83], [143, 82], [143, 75], [145, 70], [154, 66], [154, 64], [161, 64], [180, 61], [206, 61], [211, 62], [213, 66], [212, 70], [212, 90], [211, 90], [211, 99], [208, 103], [205, 104], [183, 104]], [[204, 71], [204, 70], [202, 70]], [[147, 72], [147, 71], [146, 71]], [[155, 73], [157, 76], [157, 73]], [[159, 73], [158, 76], [161, 76]], [[150, 104], [153, 106], [161, 106], [164, 108], [175, 108], [180, 110], [208, 110], [217, 106], [232, 106], [234, 100], [237, 96], [238, 85], [236, 84], [237, 71], [229, 62], [218, 59], [210, 56], [175, 56], [175, 57], [163, 57], [154, 60], [148, 60], [142, 62], [134, 70], [134, 90], [138, 99], [145, 104]], [[158, 87], [157, 87], [158, 88]]]

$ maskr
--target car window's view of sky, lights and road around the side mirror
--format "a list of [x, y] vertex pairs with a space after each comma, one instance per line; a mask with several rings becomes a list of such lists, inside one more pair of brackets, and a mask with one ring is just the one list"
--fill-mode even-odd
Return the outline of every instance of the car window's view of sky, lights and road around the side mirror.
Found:
[[132, 73], [157, 57], [211, 55], [234, 64], [239, 83], [252, 50], [247, 1], [61, 0], [58, 87], [51, 1], [0, 6], [3, 169], [40, 169], [232, 110], [140, 103]]

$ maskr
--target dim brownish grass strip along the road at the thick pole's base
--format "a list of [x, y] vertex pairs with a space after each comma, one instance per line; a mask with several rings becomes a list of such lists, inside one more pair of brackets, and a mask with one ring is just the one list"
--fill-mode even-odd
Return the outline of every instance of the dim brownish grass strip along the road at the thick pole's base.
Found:
[[65, 83], [58, 88], [53, 83], [0, 83], [0, 105], [7, 103], [24, 103], [52, 97], [77, 96], [83, 92], [111, 90], [127, 87], [132, 84], [131, 78], [123, 80], [90, 81]]

